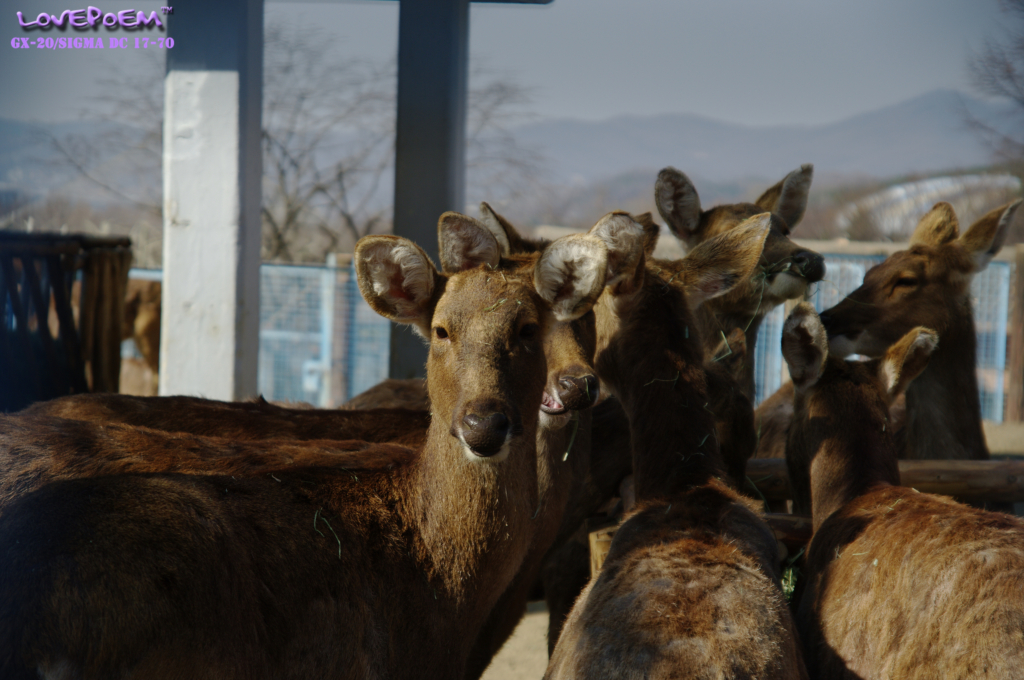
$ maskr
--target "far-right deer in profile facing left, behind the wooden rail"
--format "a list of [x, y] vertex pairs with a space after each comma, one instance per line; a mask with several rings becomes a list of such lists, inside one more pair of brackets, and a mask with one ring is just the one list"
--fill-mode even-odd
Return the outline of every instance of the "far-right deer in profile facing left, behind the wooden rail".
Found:
[[939, 334], [937, 353], [906, 392], [906, 458], [988, 458], [971, 280], [999, 252], [1019, 205], [992, 210], [959, 236], [952, 207], [936, 204], [909, 249], [869, 269], [860, 288], [821, 314], [831, 351], [841, 355], [880, 356], [916, 326]]

